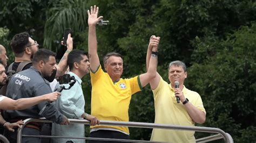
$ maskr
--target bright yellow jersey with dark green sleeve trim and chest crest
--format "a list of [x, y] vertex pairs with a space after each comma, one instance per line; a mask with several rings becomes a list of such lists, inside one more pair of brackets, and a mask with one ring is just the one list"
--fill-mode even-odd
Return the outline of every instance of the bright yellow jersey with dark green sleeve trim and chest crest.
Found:
[[[113, 83], [109, 74], [99, 66], [95, 73], [90, 72], [92, 84], [91, 114], [99, 120], [129, 121], [129, 105], [131, 96], [142, 90], [139, 76], [132, 78], [120, 78]], [[124, 126], [91, 126], [111, 127], [129, 134], [128, 127]]]

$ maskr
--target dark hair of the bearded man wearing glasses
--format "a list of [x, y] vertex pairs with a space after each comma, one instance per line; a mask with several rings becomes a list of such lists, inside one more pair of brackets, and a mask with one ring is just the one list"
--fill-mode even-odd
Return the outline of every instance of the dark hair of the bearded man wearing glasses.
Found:
[[27, 45], [30, 44], [29, 42], [29, 33], [22, 32], [15, 34], [11, 40], [11, 49], [14, 52], [15, 56], [21, 57]]

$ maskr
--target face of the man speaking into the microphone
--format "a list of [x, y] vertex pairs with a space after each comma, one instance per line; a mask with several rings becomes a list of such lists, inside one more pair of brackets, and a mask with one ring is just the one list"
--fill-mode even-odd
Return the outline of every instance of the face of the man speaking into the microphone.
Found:
[[181, 66], [171, 66], [169, 69], [169, 81], [174, 84], [175, 81], [178, 81], [179, 84], [183, 84], [185, 78], [187, 78], [187, 72]]

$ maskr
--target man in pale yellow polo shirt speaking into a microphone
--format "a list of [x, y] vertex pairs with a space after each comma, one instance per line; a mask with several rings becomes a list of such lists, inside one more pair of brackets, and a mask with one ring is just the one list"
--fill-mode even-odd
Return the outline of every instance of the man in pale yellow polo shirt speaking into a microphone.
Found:
[[[151, 47], [147, 50], [147, 67], [151, 58]], [[185, 63], [173, 61], [169, 65], [169, 81], [165, 82], [157, 73], [150, 81], [156, 112], [154, 123], [194, 126], [203, 124], [206, 111], [200, 95], [184, 85], [187, 71]], [[179, 82], [176, 88], [175, 82]], [[180, 100], [178, 103], [177, 98]], [[189, 101], [188, 101], [189, 100]], [[196, 142], [193, 131], [153, 129], [151, 141]]]

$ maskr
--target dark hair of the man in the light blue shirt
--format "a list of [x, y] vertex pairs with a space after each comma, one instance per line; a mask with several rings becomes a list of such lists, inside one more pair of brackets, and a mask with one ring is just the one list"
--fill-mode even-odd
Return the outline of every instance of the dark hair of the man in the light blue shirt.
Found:
[[87, 58], [88, 57], [88, 53], [84, 52], [84, 51], [80, 51], [78, 49], [74, 49], [73, 51], [71, 51], [68, 55], [68, 65], [69, 65], [69, 69], [72, 70], [74, 67], [74, 63], [80, 63], [81, 60], [83, 60], [83, 55], [86, 55]]

